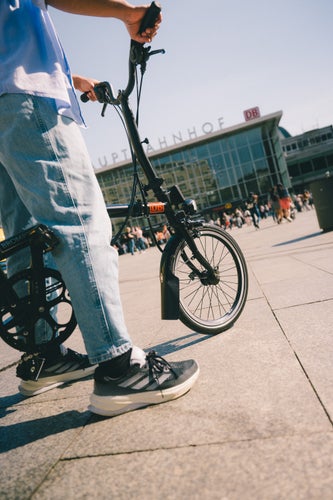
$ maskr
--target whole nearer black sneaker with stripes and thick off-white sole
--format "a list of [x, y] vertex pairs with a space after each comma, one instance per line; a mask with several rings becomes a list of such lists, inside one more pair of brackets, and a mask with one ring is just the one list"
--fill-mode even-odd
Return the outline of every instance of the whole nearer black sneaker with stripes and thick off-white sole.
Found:
[[199, 366], [194, 360], [168, 363], [153, 351], [146, 355], [133, 347], [130, 368], [123, 376], [112, 378], [102, 367], [96, 368], [89, 410], [112, 417], [166, 403], [188, 392], [198, 375]]

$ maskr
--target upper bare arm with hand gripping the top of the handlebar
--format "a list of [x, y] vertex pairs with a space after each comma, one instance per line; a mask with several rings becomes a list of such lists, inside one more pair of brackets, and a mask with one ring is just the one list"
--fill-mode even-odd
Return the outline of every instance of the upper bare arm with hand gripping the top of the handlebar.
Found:
[[144, 43], [150, 42], [156, 35], [162, 17], [159, 16], [154, 28], [148, 28], [141, 35], [139, 27], [148, 6], [134, 6], [126, 0], [46, 0], [48, 5], [69, 12], [85, 16], [114, 17], [123, 21], [133, 40]]

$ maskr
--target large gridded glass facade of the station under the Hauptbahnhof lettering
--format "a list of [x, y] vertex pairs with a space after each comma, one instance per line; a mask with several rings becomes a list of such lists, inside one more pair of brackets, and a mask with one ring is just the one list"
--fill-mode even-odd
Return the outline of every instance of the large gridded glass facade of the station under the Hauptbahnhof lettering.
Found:
[[[186, 198], [196, 200], [200, 210], [242, 203], [251, 191], [265, 196], [277, 182], [290, 184], [278, 136], [281, 115], [268, 115], [161, 150], [150, 155], [151, 162], [164, 186], [177, 184]], [[103, 169], [96, 175], [107, 204], [129, 202], [130, 165]]]

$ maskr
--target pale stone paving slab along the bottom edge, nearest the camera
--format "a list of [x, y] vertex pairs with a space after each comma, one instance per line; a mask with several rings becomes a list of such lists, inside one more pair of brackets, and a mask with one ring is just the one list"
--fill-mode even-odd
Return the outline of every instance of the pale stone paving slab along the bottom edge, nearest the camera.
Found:
[[332, 449], [319, 433], [66, 460], [33, 498], [331, 500]]

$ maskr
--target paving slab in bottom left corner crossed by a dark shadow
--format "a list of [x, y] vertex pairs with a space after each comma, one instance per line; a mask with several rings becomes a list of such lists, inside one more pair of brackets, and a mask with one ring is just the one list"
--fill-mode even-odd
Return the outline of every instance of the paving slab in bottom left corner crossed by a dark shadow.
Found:
[[2, 418], [0, 498], [30, 498], [90, 418], [86, 401], [12, 406]]

